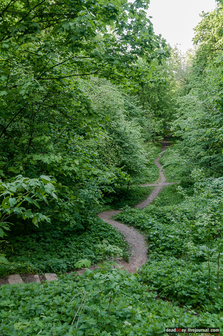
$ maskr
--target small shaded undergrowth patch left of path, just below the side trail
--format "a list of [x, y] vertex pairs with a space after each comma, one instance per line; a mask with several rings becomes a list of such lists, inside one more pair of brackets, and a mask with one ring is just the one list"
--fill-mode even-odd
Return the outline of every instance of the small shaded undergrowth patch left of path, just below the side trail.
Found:
[[126, 206], [133, 207], [145, 200], [153, 190], [153, 187], [142, 187], [140, 185], [130, 185], [128, 194], [127, 187], [120, 187], [115, 193], [108, 194], [104, 197], [106, 202], [103, 211], [118, 210]]

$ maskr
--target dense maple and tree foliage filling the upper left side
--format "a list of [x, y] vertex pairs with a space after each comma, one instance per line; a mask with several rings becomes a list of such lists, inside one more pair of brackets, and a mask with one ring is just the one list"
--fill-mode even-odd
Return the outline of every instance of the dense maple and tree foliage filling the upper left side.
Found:
[[[104, 196], [109, 203], [120, 185], [125, 190], [129, 184], [157, 178], [157, 149], [151, 139], [145, 144], [146, 112], [136, 92], [150, 85], [155, 67], [162, 67], [169, 51], [154, 34], [147, 8], [147, 1], [124, 0], [1, 2], [1, 183], [14, 183], [17, 175], [21, 181], [45, 176], [54, 183], [54, 193], [38, 204], [49, 194], [48, 183], [42, 194], [25, 194], [21, 205], [19, 188], [7, 195], [8, 200], [1, 190], [0, 216], [14, 213], [9, 213], [10, 224], [1, 226], [1, 237], [2, 230], [13, 232], [1, 241], [0, 261], [5, 261], [4, 254], [10, 258], [4, 249], [17, 244], [18, 232], [18, 241], [21, 234], [30, 242], [27, 247], [38, 250], [30, 232], [40, 220], [72, 232], [72, 245], [76, 235], [99, 224], [96, 214]], [[124, 196], [119, 207], [135, 205], [148, 190], [140, 194], [130, 201]], [[106, 237], [104, 233], [101, 241]], [[59, 246], [66, 250], [62, 242]], [[26, 252], [24, 263], [33, 264]]]

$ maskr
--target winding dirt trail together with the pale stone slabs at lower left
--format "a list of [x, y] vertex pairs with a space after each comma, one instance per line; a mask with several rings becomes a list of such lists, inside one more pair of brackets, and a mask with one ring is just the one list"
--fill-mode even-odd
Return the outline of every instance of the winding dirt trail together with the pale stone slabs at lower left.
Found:
[[[171, 135], [168, 135], [166, 138], [163, 139], [162, 143], [162, 154], [164, 155], [165, 150], [169, 147], [170, 143], [168, 140], [170, 139]], [[135, 208], [145, 208], [147, 205], [149, 205], [160, 193], [162, 188], [165, 185], [173, 184], [174, 182], [166, 182], [166, 177], [164, 176], [165, 170], [161, 171], [161, 164], [159, 163], [160, 157], [156, 158], [154, 161], [157, 167], [159, 168], [159, 179], [155, 181], [153, 184], [141, 184], [141, 186], [154, 186], [154, 190], [150, 194], [150, 196], [143, 201], [142, 203], [135, 206]], [[145, 245], [145, 237], [141, 233], [139, 233], [137, 230], [135, 230], [133, 227], [129, 227], [125, 224], [122, 224], [120, 222], [117, 222], [113, 219], [111, 219], [112, 216], [115, 216], [121, 212], [121, 210], [112, 210], [112, 211], [104, 211], [98, 214], [98, 217], [103, 219], [106, 223], [111, 224], [113, 227], [115, 227], [117, 230], [119, 230], [124, 236], [126, 241], [130, 245], [130, 258], [129, 262], [125, 261], [119, 261], [118, 265], [121, 267], [124, 267], [127, 271], [130, 273], [134, 273], [137, 268], [141, 268], [143, 264], [147, 261], [147, 248]], [[122, 259], [122, 258], [121, 258]], [[97, 266], [96, 266], [97, 267]], [[90, 269], [95, 269], [95, 266], [91, 267]], [[84, 270], [78, 270], [78, 274], [83, 274]], [[3, 284], [13, 284], [13, 283], [23, 283], [23, 281], [29, 283], [29, 282], [41, 282], [43, 281], [52, 281], [57, 280], [56, 274], [49, 274], [46, 273], [45, 276], [38, 276], [38, 275], [32, 275], [32, 274], [23, 274], [22, 277], [20, 275], [15, 274], [8, 276], [7, 278], [0, 279], [0, 286]]]

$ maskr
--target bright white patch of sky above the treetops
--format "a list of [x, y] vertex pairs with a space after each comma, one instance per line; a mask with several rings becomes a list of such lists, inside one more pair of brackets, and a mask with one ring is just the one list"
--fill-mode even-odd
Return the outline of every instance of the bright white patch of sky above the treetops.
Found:
[[215, 0], [150, 0], [147, 13], [152, 16], [155, 34], [186, 52], [193, 46], [193, 28], [201, 21], [199, 14], [215, 7]]

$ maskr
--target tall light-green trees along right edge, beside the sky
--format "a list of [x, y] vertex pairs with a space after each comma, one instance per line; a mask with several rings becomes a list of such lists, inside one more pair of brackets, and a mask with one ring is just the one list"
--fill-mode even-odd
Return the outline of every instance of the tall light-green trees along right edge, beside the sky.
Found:
[[182, 139], [175, 156], [182, 158], [189, 174], [194, 167], [202, 168], [207, 176], [223, 174], [222, 13], [219, 5], [202, 14], [195, 28], [195, 53], [182, 64], [188, 71], [172, 128]]

